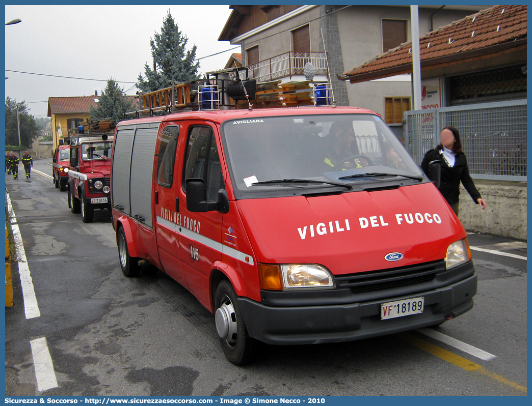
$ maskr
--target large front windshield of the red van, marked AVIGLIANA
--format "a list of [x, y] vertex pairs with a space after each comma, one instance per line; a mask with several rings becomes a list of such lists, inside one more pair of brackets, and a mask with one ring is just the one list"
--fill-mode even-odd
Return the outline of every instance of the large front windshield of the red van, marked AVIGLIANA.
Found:
[[240, 191], [423, 178], [419, 166], [377, 115], [229, 120], [222, 125], [222, 137], [232, 183]]

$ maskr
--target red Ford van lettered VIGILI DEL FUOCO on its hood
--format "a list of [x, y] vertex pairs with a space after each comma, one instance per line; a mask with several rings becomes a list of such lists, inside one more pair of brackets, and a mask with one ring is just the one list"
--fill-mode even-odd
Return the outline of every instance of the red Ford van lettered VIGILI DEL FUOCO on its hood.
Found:
[[380, 117], [354, 107], [120, 122], [123, 273], [145, 259], [214, 313], [226, 357], [433, 326], [473, 307], [466, 233]]

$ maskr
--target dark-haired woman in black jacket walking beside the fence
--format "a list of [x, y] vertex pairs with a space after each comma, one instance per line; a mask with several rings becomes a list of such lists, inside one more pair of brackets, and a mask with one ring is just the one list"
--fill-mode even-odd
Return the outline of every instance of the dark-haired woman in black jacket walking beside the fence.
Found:
[[421, 162], [423, 172], [427, 173], [429, 162], [433, 160], [440, 161], [442, 175], [438, 190], [457, 216], [459, 212], [460, 182], [462, 182], [473, 201], [484, 210], [486, 202], [480, 197], [480, 193], [475, 187], [471, 175], [469, 175], [467, 159], [465, 159], [465, 154], [462, 152], [460, 133], [452, 125], [448, 125], [440, 132], [439, 140], [438, 147], [425, 154], [423, 162]]

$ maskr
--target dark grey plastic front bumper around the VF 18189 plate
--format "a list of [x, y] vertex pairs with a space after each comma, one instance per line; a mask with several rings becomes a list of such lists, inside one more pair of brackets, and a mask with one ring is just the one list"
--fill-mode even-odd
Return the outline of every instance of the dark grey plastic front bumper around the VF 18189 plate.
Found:
[[[472, 264], [470, 265], [472, 268]], [[268, 344], [313, 344], [366, 339], [443, 323], [473, 307], [477, 276], [437, 289], [357, 303], [322, 306], [265, 306], [239, 298], [238, 306], [251, 337]], [[380, 319], [384, 302], [425, 298], [421, 314]]]

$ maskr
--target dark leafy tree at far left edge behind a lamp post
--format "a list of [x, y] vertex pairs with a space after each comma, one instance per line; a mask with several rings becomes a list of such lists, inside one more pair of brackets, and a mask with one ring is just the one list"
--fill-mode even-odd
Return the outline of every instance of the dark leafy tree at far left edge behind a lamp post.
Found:
[[35, 123], [35, 117], [29, 114], [26, 109], [26, 102], [16, 103], [15, 99], [7, 96], [5, 98], [5, 144], [19, 145], [19, 130], [16, 119], [16, 112], [19, 111], [20, 118], [20, 144], [27, 148], [38, 137], [39, 128]]

